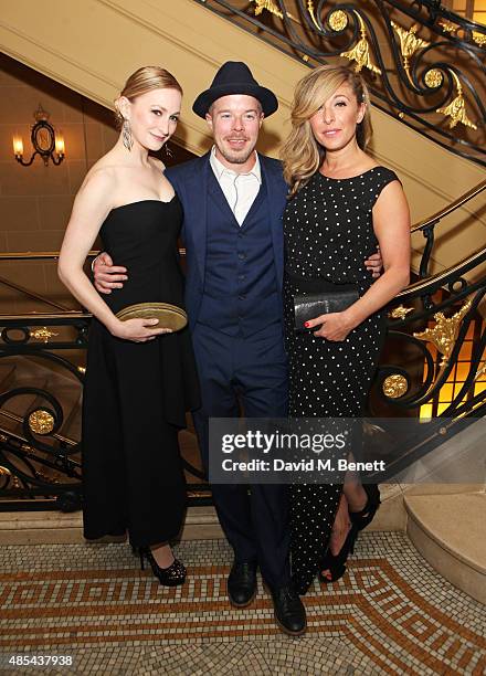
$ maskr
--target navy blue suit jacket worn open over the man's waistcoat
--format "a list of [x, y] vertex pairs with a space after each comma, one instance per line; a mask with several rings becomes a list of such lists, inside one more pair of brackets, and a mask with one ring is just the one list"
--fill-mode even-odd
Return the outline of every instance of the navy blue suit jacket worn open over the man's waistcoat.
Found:
[[[278, 289], [282, 293], [284, 274], [284, 236], [282, 214], [287, 186], [278, 160], [260, 155], [262, 176], [266, 190], [272, 242], [277, 271]], [[198, 320], [204, 289], [205, 249], [208, 232], [209, 177], [212, 171], [210, 154], [167, 169], [166, 176], [182, 202], [184, 218], [182, 239], [187, 250], [186, 309], [191, 328]]]

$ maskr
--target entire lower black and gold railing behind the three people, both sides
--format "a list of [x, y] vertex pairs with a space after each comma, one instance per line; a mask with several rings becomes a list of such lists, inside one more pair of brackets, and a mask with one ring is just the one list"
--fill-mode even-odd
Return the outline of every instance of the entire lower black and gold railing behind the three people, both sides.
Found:
[[[485, 323], [477, 311], [486, 293], [486, 247], [447, 271], [429, 273], [435, 231], [447, 215], [485, 192], [486, 181], [412, 229], [425, 237], [420, 277], [390, 305], [384, 358], [370, 398], [371, 414], [420, 418], [421, 406], [437, 397], [450, 378], [472, 323], [476, 329], [461, 388], [429, 427], [421, 425], [420, 439], [401, 440], [399, 452], [393, 448], [390, 472], [443, 441], [444, 424], [447, 430], [454, 425], [462, 429], [486, 409], [486, 388], [475, 393], [475, 383], [486, 371]], [[44, 252], [0, 257], [53, 260], [57, 255]], [[78, 390], [74, 399], [81, 399], [89, 321], [89, 314], [76, 310], [0, 315], [0, 369], [6, 371], [0, 393], [0, 509], [72, 510], [81, 505], [80, 426], [75, 434], [70, 432], [70, 412], [60, 391], [67, 383]], [[9, 368], [15, 369], [14, 377], [9, 377]], [[45, 377], [47, 370], [55, 373], [54, 379]], [[445, 421], [442, 426], [441, 420]], [[184, 466], [194, 480], [188, 484], [190, 504], [210, 503], [201, 471], [187, 460]]]

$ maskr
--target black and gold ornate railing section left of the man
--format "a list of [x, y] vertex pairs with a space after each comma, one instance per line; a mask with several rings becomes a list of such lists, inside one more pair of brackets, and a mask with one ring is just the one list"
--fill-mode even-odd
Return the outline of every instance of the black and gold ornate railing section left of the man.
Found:
[[[0, 254], [3, 261], [57, 256], [57, 252]], [[6, 283], [31, 300], [64, 308]], [[88, 313], [65, 308], [0, 315], [0, 510], [81, 507], [81, 398], [91, 319]], [[210, 503], [201, 469], [186, 457], [183, 466], [189, 503]]]

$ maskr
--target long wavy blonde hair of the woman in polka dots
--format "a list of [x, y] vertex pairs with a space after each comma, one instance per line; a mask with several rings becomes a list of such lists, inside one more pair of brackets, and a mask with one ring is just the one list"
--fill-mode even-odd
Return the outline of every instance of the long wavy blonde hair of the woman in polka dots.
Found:
[[[309, 120], [345, 83], [352, 88], [358, 104], [369, 104], [368, 88], [362, 77], [348, 66], [319, 66], [297, 83], [290, 112], [292, 131], [281, 150], [289, 198], [308, 182], [326, 156], [325, 149], [314, 137]], [[371, 134], [370, 110], [367, 105], [364, 117], [356, 127], [356, 139], [361, 150], [367, 147]]]

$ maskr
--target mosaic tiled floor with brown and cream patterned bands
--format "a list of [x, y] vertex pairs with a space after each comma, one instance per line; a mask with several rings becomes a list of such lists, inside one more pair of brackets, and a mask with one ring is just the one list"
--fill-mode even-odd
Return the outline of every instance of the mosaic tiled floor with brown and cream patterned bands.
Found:
[[[402, 534], [364, 534], [349, 572], [305, 598], [308, 632], [275, 626], [260, 593], [225, 598], [220, 540], [178, 548], [190, 578], [158, 584], [127, 545], [0, 551], [1, 674], [486, 674], [486, 609], [440, 578]], [[70, 655], [72, 666], [6, 666], [10, 655]]]

